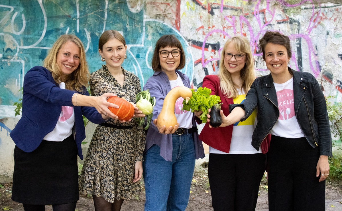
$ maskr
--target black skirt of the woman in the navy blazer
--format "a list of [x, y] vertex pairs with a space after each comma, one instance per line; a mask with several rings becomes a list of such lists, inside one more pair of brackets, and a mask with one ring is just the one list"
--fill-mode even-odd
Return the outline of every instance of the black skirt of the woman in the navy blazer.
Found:
[[14, 148], [12, 200], [30, 205], [77, 201], [77, 146], [73, 136], [45, 141], [33, 152]]

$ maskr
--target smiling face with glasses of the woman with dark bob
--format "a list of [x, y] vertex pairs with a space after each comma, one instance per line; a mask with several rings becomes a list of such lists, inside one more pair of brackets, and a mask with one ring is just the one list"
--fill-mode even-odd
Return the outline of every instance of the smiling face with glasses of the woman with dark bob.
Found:
[[[176, 48], [176, 47], [164, 47], [164, 48], [160, 48], [159, 52], [161, 51], [169, 51], [169, 52], [173, 52], [173, 54], [175, 54], [175, 51], [180, 52], [180, 49]], [[162, 52], [165, 53], [165, 52]], [[179, 54], [179, 56], [174, 57], [172, 56], [172, 53], [169, 53], [169, 56], [167, 56], [166, 58], [163, 58], [161, 56], [161, 53], [159, 53], [159, 64], [161, 67], [161, 71], [165, 72], [165, 73], [172, 73], [176, 70], [176, 68], [179, 66], [181, 62], [181, 54]]]

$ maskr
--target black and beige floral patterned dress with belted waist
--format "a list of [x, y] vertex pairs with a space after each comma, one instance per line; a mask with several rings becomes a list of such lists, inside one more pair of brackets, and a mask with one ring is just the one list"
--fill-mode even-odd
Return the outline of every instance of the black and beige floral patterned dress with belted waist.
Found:
[[[135, 96], [141, 92], [139, 78], [124, 70], [125, 79], [121, 86], [105, 65], [90, 76], [92, 96], [114, 93], [135, 103]], [[134, 119], [120, 123], [110, 120], [108, 124], [131, 126], [118, 129], [98, 125], [90, 142], [87, 157], [79, 181], [80, 194], [114, 200], [134, 198], [141, 190], [140, 182], [133, 183], [135, 161], [142, 161], [145, 148], [145, 132]]]

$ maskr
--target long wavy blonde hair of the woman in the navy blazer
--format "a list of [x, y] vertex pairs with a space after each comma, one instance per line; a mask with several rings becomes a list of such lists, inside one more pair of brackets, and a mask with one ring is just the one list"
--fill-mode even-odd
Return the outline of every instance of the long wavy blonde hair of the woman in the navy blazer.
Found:
[[86, 61], [86, 53], [84, 52], [82, 41], [72, 34], [64, 34], [53, 44], [47, 57], [43, 61], [43, 67], [48, 69], [56, 83], [62, 81], [62, 70], [57, 64], [57, 54], [61, 50], [62, 46], [71, 41], [75, 43], [80, 49], [80, 64], [77, 69], [69, 75], [66, 75], [63, 82], [65, 88], [69, 90], [76, 90], [82, 92], [84, 87], [88, 86], [90, 73]]

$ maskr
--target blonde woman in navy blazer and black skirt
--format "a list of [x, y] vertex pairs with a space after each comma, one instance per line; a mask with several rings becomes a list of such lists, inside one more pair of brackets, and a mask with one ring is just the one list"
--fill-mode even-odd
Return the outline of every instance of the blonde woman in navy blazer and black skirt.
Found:
[[30, 69], [24, 78], [23, 113], [10, 133], [14, 149], [12, 200], [25, 211], [75, 210], [78, 195], [77, 154], [86, 137], [82, 115], [99, 124], [118, 117], [107, 102], [116, 96], [89, 96], [89, 70], [82, 42], [61, 36], [43, 67]]

